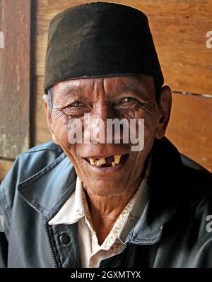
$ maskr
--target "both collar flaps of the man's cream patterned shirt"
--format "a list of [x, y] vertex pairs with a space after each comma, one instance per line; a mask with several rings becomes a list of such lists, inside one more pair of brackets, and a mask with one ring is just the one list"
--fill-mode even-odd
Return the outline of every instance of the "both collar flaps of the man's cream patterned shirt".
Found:
[[[109, 235], [105, 238], [101, 249], [110, 249], [116, 240], [119, 240], [119, 243], [124, 245], [127, 235], [129, 234], [131, 228], [139, 220], [141, 213], [143, 212], [143, 208], [146, 206], [148, 195], [145, 188], [146, 187], [143, 185], [143, 182], [141, 182], [139, 189], [137, 189], [134, 196], [117, 218], [117, 221], [114, 223]], [[54, 218], [49, 221], [49, 225], [73, 224], [81, 218], [85, 219], [90, 232], [95, 233], [90, 219], [86, 195], [83, 191], [83, 183], [79, 177], [77, 177], [75, 192], [73, 192]]]

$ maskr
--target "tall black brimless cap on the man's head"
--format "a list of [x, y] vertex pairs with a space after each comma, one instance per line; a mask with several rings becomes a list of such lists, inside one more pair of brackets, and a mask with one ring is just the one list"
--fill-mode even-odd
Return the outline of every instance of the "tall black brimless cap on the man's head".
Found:
[[45, 93], [74, 78], [141, 75], [163, 85], [146, 15], [122, 4], [73, 6], [52, 19], [45, 61]]

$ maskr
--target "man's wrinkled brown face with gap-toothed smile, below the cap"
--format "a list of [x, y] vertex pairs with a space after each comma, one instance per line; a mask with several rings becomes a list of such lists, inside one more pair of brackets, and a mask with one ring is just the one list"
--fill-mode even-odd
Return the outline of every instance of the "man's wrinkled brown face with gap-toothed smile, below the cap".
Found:
[[[166, 86], [161, 91], [158, 105], [153, 78], [149, 76], [85, 78], [54, 85], [52, 111], [45, 102], [52, 139], [61, 146], [91, 192], [119, 195], [138, 187], [153, 141], [164, 136], [170, 117], [170, 88]], [[144, 119], [143, 150], [131, 151], [131, 143], [123, 142], [71, 144], [70, 121], [84, 124], [86, 113], [90, 114], [91, 123], [93, 119], [101, 119], [105, 124], [107, 119], [135, 119], [136, 123]], [[100, 127], [93, 126], [93, 136], [99, 136], [99, 130]]]

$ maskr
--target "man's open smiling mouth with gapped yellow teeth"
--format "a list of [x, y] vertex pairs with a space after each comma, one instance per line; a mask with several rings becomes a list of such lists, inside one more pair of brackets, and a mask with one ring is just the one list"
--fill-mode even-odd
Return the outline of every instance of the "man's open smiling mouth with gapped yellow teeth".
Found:
[[93, 167], [97, 168], [114, 168], [123, 165], [128, 157], [128, 153], [124, 155], [111, 155], [105, 158], [83, 158]]

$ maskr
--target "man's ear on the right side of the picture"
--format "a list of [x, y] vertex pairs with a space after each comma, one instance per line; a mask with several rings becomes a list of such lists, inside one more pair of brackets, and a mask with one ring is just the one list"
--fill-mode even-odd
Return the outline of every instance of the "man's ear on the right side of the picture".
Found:
[[159, 103], [159, 119], [157, 129], [155, 130], [155, 138], [161, 139], [165, 135], [167, 124], [170, 120], [170, 113], [172, 107], [172, 90], [169, 86], [163, 86], [160, 93]]

